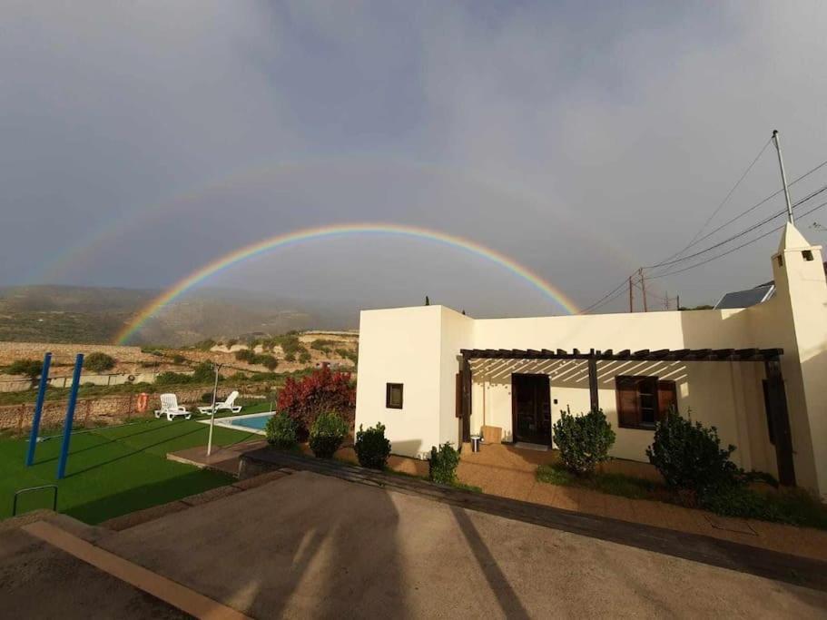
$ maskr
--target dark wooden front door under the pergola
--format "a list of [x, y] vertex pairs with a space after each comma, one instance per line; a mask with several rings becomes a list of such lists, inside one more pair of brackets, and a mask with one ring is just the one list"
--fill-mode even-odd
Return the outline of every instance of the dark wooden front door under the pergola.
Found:
[[511, 375], [511, 417], [515, 441], [551, 445], [548, 375]]

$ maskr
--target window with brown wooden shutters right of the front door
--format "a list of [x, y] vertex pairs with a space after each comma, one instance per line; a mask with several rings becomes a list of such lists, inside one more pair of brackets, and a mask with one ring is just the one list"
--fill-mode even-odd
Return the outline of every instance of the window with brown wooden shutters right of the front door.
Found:
[[615, 377], [617, 423], [624, 428], [655, 428], [672, 407], [677, 407], [674, 381], [657, 377]]

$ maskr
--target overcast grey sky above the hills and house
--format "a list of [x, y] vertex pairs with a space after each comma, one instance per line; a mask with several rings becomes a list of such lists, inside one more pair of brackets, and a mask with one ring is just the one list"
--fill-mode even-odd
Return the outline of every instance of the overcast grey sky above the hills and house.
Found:
[[[5, 0], [0, 284], [164, 287], [276, 234], [385, 221], [486, 245], [584, 307], [691, 241], [773, 129], [791, 179], [827, 159], [825, 33], [822, 1]], [[825, 183], [827, 167], [793, 200]], [[780, 187], [771, 146], [706, 231]], [[812, 221], [827, 208], [802, 221], [825, 241]], [[777, 242], [649, 288], [714, 302], [768, 280]], [[206, 284], [563, 311], [497, 264], [389, 236], [308, 241]]]

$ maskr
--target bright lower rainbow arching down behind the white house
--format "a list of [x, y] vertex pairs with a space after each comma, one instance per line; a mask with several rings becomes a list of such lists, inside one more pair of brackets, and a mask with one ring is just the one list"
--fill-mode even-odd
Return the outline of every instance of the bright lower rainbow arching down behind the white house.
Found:
[[579, 312], [579, 309], [575, 305], [574, 301], [570, 300], [566, 294], [563, 293], [563, 291], [556, 289], [556, 287], [552, 286], [549, 282], [543, 280], [537, 275], [537, 273], [530, 271], [527, 267], [524, 267], [517, 261], [508, 258], [504, 254], [492, 250], [491, 248], [487, 248], [476, 241], [469, 241], [468, 239], [451, 235], [446, 232], [431, 231], [418, 226], [403, 226], [400, 224], [388, 223], [335, 224], [317, 228], [305, 228], [299, 231], [279, 234], [268, 239], [245, 245], [244, 247], [224, 254], [214, 261], [204, 265], [200, 269], [193, 271], [182, 280], [178, 280], [167, 290], [164, 290], [161, 295], [150, 301], [133, 317], [133, 320], [124, 326], [123, 330], [121, 330], [115, 337], [115, 341], [117, 344], [125, 344], [138, 330], [143, 327], [143, 324], [147, 320], [153, 317], [158, 310], [161, 310], [172, 300], [180, 297], [187, 290], [192, 289], [192, 287], [199, 282], [206, 280], [215, 273], [230, 268], [232, 265], [235, 265], [241, 261], [246, 261], [264, 252], [295, 245], [297, 243], [301, 243], [302, 241], [330, 239], [333, 237], [343, 237], [355, 234], [398, 235], [400, 237], [436, 241], [453, 248], [458, 248], [459, 250], [468, 251], [472, 254], [476, 254], [477, 256], [487, 259], [488, 261], [497, 263], [497, 265], [505, 268], [507, 271], [511, 271], [519, 278], [526, 280], [535, 289], [545, 294], [551, 300], [554, 300], [569, 314], [576, 314]]

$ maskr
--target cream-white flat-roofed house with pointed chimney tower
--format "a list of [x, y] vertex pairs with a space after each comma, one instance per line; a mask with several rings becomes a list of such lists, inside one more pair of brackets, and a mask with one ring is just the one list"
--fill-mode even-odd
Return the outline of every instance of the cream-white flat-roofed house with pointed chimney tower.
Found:
[[356, 423], [396, 454], [487, 440], [552, 445], [561, 410], [603, 408], [613, 456], [646, 460], [675, 404], [733, 459], [827, 497], [827, 282], [787, 224], [775, 294], [750, 308], [475, 320], [443, 306], [363, 310]]

